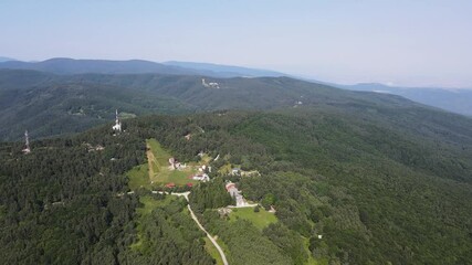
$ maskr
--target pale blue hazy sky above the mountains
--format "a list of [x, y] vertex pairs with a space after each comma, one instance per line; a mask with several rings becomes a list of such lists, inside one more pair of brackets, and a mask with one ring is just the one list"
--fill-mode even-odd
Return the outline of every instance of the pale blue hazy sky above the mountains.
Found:
[[263, 67], [472, 87], [472, 0], [1, 0], [0, 56]]

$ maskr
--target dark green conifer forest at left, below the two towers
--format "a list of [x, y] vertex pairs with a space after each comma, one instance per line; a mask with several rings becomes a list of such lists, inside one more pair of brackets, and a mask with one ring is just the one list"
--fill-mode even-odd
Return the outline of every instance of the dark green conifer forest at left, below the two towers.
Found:
[[133, 241], [126, 231], [138, 200], [117, 194], [125, 170], [144, 160], [144, 146], [101, 132], [35, 141], [28, 156], [21, 144], [1, 144], [3, 264], [109, 264]]

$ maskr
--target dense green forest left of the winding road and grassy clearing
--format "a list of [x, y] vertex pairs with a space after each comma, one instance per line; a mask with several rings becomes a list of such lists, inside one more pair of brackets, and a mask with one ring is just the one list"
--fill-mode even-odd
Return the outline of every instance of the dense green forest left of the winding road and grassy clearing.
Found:
[[144, 139], [129, 127], [34, 141], [29, 155], [1, 144], [0, 264], [213, 263], [185, 201], [140, 213], [146, 198], [166, 199], [129, 192], [126, 172], [144, 162]]

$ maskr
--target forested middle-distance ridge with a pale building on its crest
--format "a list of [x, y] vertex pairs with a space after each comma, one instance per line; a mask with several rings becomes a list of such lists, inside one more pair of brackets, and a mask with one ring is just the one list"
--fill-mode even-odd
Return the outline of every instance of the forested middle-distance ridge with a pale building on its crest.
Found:
[[[220, 88], [202, 85], [217, 82]], [[216, 109], [274, 109], [310, 105], [386, 109], [417, 107], [398, 96], [348, 92], [289, 77], [209, 78], [159, 74], [54, 75], [0, 71], [0, 140], [82, 131], [114, 119], [144, 114]]]

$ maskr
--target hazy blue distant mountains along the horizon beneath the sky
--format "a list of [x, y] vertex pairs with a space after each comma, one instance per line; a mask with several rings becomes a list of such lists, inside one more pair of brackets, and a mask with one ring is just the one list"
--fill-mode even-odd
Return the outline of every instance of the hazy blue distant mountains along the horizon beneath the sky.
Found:
[[[73, 60], [51, 59], [42, 62], [20, 62], [12, 59], [0, 57], [0, 68], [34, 70], [60, 75], [101, 73], [101, 74], [170, 74], [170, 75], [200, 75], [211, 77], [262, 77], [262, 76], [291, 76], [293, 75], [248, 67], [219, 65], [192, 62], [165, 62], [155, 63], [144, 60], [107, 61], [107, 60]], [[314, 81], [317, 83], [316, 81]], [[449, 112], [472, 116], [471, 89], [449, 89], [431, 87], [392, 87], [382, 84], [338, 85], [344, 89], [369, 91], [400, 95], [411, 100], [439, 107]]]

